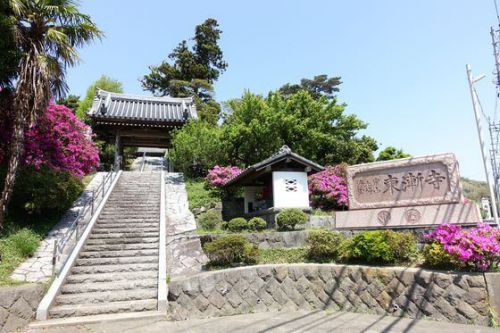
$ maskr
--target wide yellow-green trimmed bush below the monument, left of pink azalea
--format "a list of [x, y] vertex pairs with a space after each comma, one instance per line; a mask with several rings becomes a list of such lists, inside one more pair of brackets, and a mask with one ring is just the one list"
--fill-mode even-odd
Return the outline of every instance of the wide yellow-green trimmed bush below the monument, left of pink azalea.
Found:
[[356, 234], [347, 240], [344, 255], [355, 261], [394, 264], [409, 261], [416, 250], [417, 241], [412, 234], [376, 230]]

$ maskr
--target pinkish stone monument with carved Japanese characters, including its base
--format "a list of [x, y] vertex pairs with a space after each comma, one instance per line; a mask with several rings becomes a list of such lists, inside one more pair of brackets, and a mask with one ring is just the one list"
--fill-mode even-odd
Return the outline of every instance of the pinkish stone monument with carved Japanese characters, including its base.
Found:
[[347, 189], [349, 210], [336, 214], [340, 229], [481, 221], [479, 207], [462, 196], [451, 153], [348, 167]]

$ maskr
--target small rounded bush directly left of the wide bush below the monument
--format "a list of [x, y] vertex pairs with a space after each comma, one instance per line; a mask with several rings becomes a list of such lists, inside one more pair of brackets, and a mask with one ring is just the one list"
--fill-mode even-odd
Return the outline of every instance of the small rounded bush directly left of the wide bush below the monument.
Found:
[[338, 232], [314, 231], [307, 236], [307, 257], [317, 261], [332, 261], [339, 257], [344, 237]]

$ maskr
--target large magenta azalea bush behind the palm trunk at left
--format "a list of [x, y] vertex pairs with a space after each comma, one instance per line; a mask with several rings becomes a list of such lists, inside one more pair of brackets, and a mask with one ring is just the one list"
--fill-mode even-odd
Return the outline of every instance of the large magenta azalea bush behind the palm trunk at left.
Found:
[[[7, 124], [0, 124], [0, 164], [10, 139]], [[92, 141], [92, 130], [63, 105], [50, 103], [36, 126], [25, 133], [23, 164], [39, 170], [48, 166], [81, 177], [99, 167], [99, 151]]]

